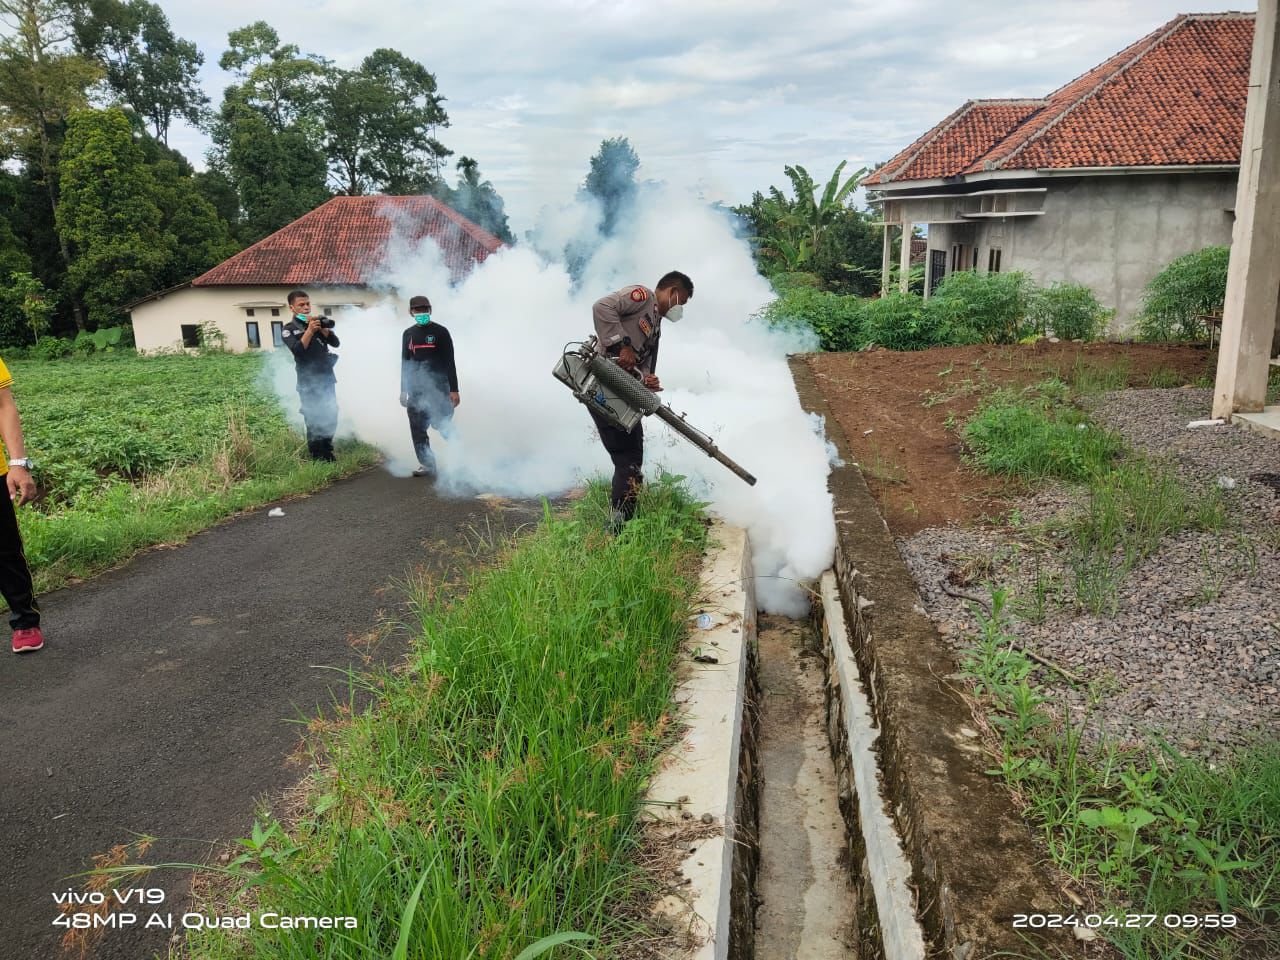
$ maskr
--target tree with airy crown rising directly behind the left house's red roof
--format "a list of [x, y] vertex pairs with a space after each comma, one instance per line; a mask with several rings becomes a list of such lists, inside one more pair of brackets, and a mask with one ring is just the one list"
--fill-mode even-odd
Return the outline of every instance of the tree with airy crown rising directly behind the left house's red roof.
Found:
[[442, 183], [453, 151], [435, 137], [449, 125], [435, 76], [396, 50], [378, 49], [356, 70], [330, 70], [321, 88], [325, 151], [343, 193], [424, 193]]

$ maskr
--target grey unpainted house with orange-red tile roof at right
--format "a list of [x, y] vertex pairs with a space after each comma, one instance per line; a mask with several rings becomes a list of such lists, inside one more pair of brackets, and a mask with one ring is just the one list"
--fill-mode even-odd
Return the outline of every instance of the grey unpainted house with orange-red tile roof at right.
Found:
[[1048, 96], [970, 100], [863, 186], [954, 270], [1083, 283], [1123, 329], [1183, 253], [1231, 242], [1252, 13], [1183, 14]]

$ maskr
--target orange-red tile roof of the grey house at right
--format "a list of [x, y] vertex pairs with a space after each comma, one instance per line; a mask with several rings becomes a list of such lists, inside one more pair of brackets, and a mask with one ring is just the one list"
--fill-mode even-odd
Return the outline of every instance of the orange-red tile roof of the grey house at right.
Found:
[[[965, 123], [975, 101], [864, 183], [984, 170], [1238, 164], [1253, 14], [1183, 14], [1094, 67], [1000, 132]], [[983, 132], [986, 131], [986, 133]], [[991, 142], [982, 150], [983, 138]], [[910, 156], [909, 156], [910, 154]]]

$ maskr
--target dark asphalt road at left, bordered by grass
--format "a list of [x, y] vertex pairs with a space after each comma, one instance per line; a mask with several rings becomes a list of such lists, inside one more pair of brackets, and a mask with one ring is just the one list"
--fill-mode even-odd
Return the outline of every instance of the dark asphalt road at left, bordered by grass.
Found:
[[[45, 649], [0, 653], [0, 957], [65, 956], [54, 896], [116, 844], [205, 861], [247, 836], [256, 801], [301, 774], [297, 718], [343, 690], [325, 667], [356, 663], [348, 637], [403, 611], [388, 585], [494, 509], [380, 470], [282, 506], [41, 598]], [[538, 507], [508, 511], [515, 526]], [[136, 911], [177, 920], [188, 881], [152, 874], [138, 886], [165, 902]], [[147, 960], [172, 933], [106, 931], [91, 956]]]

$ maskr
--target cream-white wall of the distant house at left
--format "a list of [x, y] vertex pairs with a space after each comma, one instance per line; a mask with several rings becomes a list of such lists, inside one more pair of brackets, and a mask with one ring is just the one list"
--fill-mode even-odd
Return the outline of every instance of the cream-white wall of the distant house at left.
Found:
[[[276, 337], [273, 324], [289, 320], [285, 297], [293, 287], [183, 287], [155, 300], [137, 305], [131, 311], [133, 338], [140, 353], [182, 349], [189, 328], [212, 324], [227, 337], [227, 348], [237, 353], [247, 349], [274, 349]], [[306, 287], [311, 294], [312, 312], [329, 310], [337, 315], [344, 307], [372, 307], [383, 294], [358, 287]], [[188, 328], [186, 332], [183, 328]], [[275, 328], [279, 329], [279, 328]], [[257, 333], [257, 347], [250, 344], [251, 332]]]

